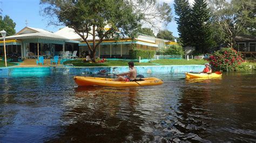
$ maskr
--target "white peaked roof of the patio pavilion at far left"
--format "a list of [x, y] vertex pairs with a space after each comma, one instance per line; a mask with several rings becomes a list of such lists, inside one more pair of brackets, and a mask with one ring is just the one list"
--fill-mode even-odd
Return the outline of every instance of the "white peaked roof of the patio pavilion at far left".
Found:
[[[5, 37], [8, 39], [28, 39], [28, 38], [45, 38], [45, 39], [59, 39], [59, 40], [69, 40], [61, 35], [54, 34], [49, 31], [45, 31], [39, 28], [24, 27], [21, 31], [17, 32], [15, 35], [10, 35]], [[3, 39], [3, 38], [0, 38]]]

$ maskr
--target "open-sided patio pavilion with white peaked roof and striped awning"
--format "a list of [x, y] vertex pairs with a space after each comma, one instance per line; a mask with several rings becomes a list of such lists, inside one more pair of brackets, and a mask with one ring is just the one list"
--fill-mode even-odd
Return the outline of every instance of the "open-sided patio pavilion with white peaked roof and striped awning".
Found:
[[[22, 59], [30, 58], [29, 54], [51, 58], [58, 55], [60, 51], [75, 51], [78, 50], [79, 42], [33, 27], [24, 27], [15, 35], [5, 37], [5, 40], [6, 54], [17, 53]], [[3, 46], [3, 41], [0, 41], [0, 46]], [[1, 55], [2, 49], [0, 48]]]

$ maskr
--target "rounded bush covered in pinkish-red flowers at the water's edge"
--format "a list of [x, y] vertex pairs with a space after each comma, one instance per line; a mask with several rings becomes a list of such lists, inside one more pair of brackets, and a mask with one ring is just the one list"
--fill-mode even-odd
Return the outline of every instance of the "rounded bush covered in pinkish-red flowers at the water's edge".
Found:
[[208, 59], [214, 70], [236, 71], [244, 60], [242, 54], [233, 48], [221, 48]]

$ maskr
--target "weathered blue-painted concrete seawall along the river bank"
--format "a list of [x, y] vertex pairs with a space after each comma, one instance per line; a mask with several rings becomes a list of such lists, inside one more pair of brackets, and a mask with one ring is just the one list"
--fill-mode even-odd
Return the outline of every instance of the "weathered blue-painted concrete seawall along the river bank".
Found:
[[[138, 74], [146, 73], [185, 73], [199, 72], [204, 69], [204, 65], [181, 65], [181, 66], [136, 66]], [[129, 70], [128, 66], [115, 67], [8, 67], [0, 68], [0, 76], [22, 76], [22, 75], [42, 75], [42, 74], [97, 74], [99, 72], [118, 74]]]

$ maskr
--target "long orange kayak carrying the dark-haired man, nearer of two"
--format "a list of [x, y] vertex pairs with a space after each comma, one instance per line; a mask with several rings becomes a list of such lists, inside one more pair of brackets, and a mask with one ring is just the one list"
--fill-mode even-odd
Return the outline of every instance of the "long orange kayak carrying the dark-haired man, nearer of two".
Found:
[[75, 76], [74, 80], [78, 86], [90, 86], [99, 85], [106, 87], [138, 87], [144, 85], [158, 85], [163, 84], [163, 80], [155, 77], [142, 78], [144, 81], [132, 81], [122, 82], [113, 81], [113, 78], [101, 78], [101, 77], [86, 77], [86, 76]]

